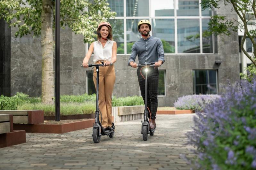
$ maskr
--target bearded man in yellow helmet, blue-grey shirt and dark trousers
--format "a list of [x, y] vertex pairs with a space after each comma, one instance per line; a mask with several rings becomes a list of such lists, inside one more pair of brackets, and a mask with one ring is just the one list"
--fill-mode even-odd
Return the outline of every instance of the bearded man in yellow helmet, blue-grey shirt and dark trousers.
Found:
[[[137, 67], [135, 62], [138, 55], [139, 64], [154, 62], [155, 66], [160, 66], [164, 63], [164, 50], [162, 42], [159, 38], [149, 35], [151, 31], [151, 24], [148, 20], [143, 19], [138, 22], [138, 31], [142, 35], [142, 38], [135, 42], [132, 46], [131, 56], [128, 61], [128, 66], [134, 68]], [[143, 70], [143, 69], [142, 69]], [[145, 79], [141, 75], [141, 67], [137, 69], [137, 76], [140, 86], [140, 91], [145, 102]], [[157, 111], [157, 94], [158, 94], [158, 68], [148, 67], [148, 95], [147, 95], [147, 107], [151, 112], [151, 119], [149, 125], [151, 129], [156, 128], [156, 111]], [[150, 118], [150, 114], [148, 115]]]

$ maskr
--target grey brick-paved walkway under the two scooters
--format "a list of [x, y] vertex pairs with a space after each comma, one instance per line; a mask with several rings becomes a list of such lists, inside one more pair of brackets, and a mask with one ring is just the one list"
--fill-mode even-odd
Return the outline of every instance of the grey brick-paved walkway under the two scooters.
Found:
[[116, 123], [113, 138], [93, 143], [92, 128], [65, 134], [26, 133], [26, 143], [0, 149], [0, 169], [190, 169], [180, 154], [194, 114], [157, 115], [154, 136], [143, 141], [141, 120]]

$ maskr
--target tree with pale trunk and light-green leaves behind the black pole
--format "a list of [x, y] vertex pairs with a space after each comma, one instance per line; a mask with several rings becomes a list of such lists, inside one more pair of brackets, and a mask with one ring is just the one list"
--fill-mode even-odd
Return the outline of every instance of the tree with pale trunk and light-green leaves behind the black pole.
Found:
[[[115, 12], [110, 12], [107, 0], [61, 0], [60, 25], [70, 27], [84, 36], [84, 42], [93, 42], [97, 25]], [[42, 47], [42, 102], [54, 99], [54, 38], [55, 0], [1, 0], [0, 18], [10, 26], [18, 27], [15, 36], [41, 35]]]

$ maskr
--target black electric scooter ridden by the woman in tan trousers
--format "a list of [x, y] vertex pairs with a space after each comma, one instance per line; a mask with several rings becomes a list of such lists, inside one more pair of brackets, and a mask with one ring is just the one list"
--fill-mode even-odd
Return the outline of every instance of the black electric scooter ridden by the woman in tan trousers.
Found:
[[[111, 64], [112, 65], [112, 64]], [[104, 66], [104, 62], [102, 61], [101, 64], [89, 64], [89, 67], [96, 67], [96, 73], [97, 73], [97, 77], [96, 77], [96, 111], [95, 111], [95, 123], [93, 124], [93, 142], [94, 143], [99, 143], [101, 136], [102, 135], [107, 135], [110, 138], [114, 137], [115, 134], [115, 125], [114, 123], [112, 123], [112, 127], [110, 129], [105, 130], [103, 128], [103, 126], [101, 125], [101, 122], [99, 120], [99, 114], [100, 114], [100, 110], [99, 110], [99, 106], [98, 106], [98, 100], [99, 100], [99, 67], [100, 66]], [[83, 67], [83, 66], [81, 66]]]

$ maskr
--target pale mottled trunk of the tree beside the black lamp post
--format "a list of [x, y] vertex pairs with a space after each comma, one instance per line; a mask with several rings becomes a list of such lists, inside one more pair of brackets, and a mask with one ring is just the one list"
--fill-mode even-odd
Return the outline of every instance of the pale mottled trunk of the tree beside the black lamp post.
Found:
[[54, 67], [53, 67], [53, 3], [42, 0], [42, 102], [54, 103]]

